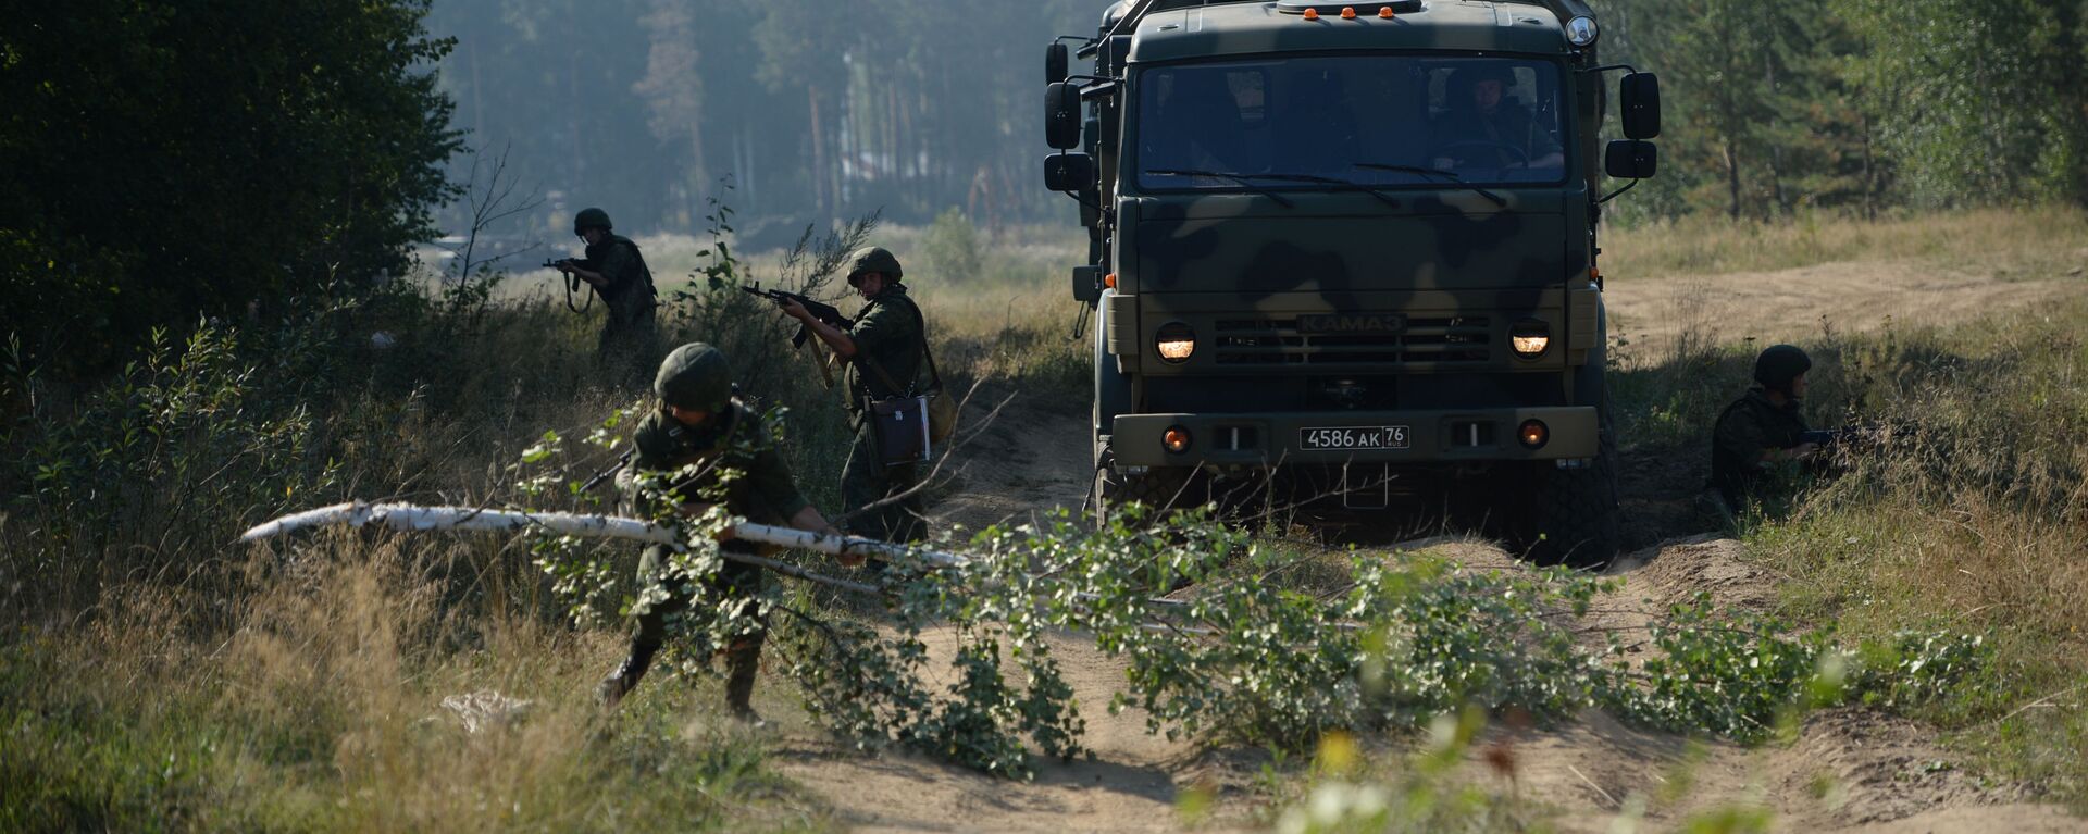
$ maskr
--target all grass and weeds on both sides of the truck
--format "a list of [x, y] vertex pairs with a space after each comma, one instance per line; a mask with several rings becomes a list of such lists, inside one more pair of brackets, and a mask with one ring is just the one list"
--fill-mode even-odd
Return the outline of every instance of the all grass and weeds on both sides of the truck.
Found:
[[[1086, 408], [1088, 345], [1061, 230], [879, 236], [919, 263], [942, 370], [996, 378], [1040, 408]], [[1614, 230], [1606, 270], [1787, 270], [1923, 259], [2065, 272], [2088, 261], [2078, 211], [1888, 224], [1687, 224]], [[649, 245], [656, 274], [699, 265]], [[915, 251], [923, 251], [915, 259]], [[773, 274], [773, 259], [750, 261]], [[1656, 278], [1658, 276], [1658, 278]], [[520, 282], [518, 282], [520, 284]], [[599, 314], [597, 314], [599, 316]], [[1806, 341], [1817, 422], [1856, 412], [1923, 426], [1781, 520], [1758, 560], [1792, 577], [1785, 612], [1856, 638], [1992, 631], [1986, 686], [1925, 713], [1994, 773], [2088, 796], [2088, 303], [1952, 328]], [[789, 462], [835, 506], [839, 414], [781, 318], [727, 305], [677, 320], [731, 345], [748, 395], [789, 406]], [[0, 435], [0, 830], [818, 830], [827, 811], [718, 729], [710, 684], [647, 681], [603, 719], [593, 681], [614, 629], [574, 629], [539, 571], [497, 541], [338, 535], [280, 556], [228, 548], [263, 516], [347, 497], [514, 500], [516, 456], [545, 428], [585, 433], [643, 389], [593, 366], [593, 320], [499, 288], [169, 339], [102, 387], [6, 374], [29, 403]], [[372, 330], [395, 337], [388, 349]], [[1624, 435], [1698, 454], [1746, 378], [1741, 345], [1677, 343], [1618, 376]], [[267, 556], [267, 558], [265, 558]], [[468, 734], [441, 706], [497, 690], [532, 702]], [[781, 698], [773, 681], [764, 698]]]

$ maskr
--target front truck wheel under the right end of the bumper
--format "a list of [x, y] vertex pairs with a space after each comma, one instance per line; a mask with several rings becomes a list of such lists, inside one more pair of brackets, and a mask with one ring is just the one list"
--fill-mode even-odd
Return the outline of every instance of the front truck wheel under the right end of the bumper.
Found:
[[1587, 468], [1537, 464], [1533, 495], [1533, 543], [1537, 564], [1599, 569], [1616, 558], [1620, 543], [1616, 506], [1616, 431], [1610, 426], [1608, 397], [1601, 406], [1601, 443]]

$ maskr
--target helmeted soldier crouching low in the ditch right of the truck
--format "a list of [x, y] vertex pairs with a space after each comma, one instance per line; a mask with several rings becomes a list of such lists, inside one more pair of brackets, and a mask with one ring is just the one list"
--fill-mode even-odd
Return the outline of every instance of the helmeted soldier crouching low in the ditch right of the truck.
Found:
[[[1796, 470], [1814, 458], [1819, 443], [1806, 441], [1806, 418], [1800, 414], [1810, 368], [1812, 357], [1792, 345], [1771, 347], [1754, 360], [1758, 385], [1727, 406], [1712, 428], [1706, 497], [1714, 510], [1731, 518], [1750, 500], [1762, 497], [1760, 489], [1771, 474]], [[1716, 506], [1718, 502], [1725, 506]]]

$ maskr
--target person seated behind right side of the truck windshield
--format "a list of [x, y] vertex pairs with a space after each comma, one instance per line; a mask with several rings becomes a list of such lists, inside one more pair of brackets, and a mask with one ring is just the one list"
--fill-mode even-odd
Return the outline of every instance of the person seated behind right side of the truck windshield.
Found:
[[1445, 111], [1434, 121], [1434, 167], [1560, 169], [1566, 148], [1510, 96], [1516, 73], [1497, 63], [1451, 71]]

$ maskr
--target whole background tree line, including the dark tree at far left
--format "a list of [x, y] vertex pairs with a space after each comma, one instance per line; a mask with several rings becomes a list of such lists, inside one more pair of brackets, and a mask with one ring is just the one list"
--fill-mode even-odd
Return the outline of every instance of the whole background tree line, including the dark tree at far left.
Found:
[[[883, 211], [1071, 228], [1038, 184], [1042, 44], [1105, 0], [84, 0], [0, 31], [0, 330], [106, 368], [152, 326], [405, 268], [461, 150], [547, 196], [501, 234], [741, 242]], [[1614, 222], [2088, 203], [2088, 13], [2040, 0], [1597, 0], [1666, 79]], [[451, 180], [451, 182], [445, 182]], [[731, 190], [725, 190], [731, 184]]]

